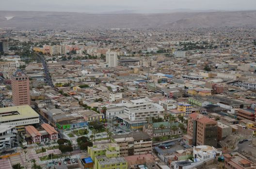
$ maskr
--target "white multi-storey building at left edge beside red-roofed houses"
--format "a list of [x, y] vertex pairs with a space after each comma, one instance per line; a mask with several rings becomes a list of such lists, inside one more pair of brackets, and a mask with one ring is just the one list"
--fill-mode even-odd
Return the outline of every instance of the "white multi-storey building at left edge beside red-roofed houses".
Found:
[[0, 124], [0, 150], [12, 148], [17, 144], [17, 130], [15, 126]]

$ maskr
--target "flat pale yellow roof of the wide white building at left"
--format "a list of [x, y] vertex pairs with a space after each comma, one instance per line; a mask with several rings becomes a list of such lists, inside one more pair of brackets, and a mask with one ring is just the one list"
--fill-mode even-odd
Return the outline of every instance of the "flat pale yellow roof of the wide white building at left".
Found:
[[0, 122], [31, 117], [39, 117], [39, 114], [29, 105], [0, 108]]

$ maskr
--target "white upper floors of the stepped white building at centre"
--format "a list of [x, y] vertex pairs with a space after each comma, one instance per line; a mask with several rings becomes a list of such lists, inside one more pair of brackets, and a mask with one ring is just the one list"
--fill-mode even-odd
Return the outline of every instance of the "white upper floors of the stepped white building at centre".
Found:
[[160, 112], [164, 111], [162, 106], [153, 103], [148, 98], [130, 100], [124, 106], [124, 114], [131, 121], [147, 120], [149, 117], [157, 117]]

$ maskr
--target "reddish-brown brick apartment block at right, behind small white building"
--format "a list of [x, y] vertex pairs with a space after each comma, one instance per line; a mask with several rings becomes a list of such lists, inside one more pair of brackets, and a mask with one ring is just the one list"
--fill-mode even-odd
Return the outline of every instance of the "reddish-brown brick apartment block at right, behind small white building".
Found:
[[217, 122], [198, 113], [192, 113], [188, 117], [187, 135], [184, 141], [190, 145], [217, 146]]

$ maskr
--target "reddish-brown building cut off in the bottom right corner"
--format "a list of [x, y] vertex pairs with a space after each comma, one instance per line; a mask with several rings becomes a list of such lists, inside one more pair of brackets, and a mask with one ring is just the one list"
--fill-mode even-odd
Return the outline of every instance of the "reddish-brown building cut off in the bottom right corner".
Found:
[[256, 169], [256, 164], [239, 153], [224, 155], [225, 169]]

